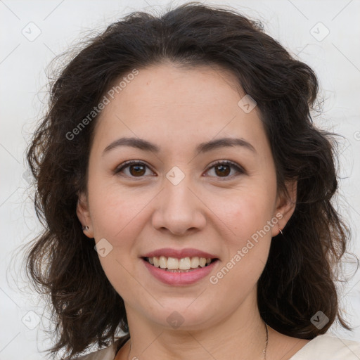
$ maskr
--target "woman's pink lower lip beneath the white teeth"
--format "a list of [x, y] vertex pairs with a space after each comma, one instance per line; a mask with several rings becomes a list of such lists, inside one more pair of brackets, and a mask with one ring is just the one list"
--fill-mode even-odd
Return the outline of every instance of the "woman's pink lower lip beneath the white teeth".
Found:
[[188, 271], [187, 273], [173, 273], [172, 271], [166, 271], [165, 269], [155, 267], [144, 259], [142, 260], [151, 275], [160, 280], [162, 283], [175, 286], [191, 285], [200, 281], [202, 278], [205, 278], [205, 276], [210, 274], [218, 262], [218, 260], [216, 260], [205, 267], [200, 267], [198, 269]]

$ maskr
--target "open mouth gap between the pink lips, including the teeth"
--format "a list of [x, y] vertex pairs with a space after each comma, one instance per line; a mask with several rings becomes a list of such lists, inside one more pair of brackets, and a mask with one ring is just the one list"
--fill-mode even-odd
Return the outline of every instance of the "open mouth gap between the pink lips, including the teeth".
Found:
[[172, 273], [188, 273], [197, 269], [205, 268], [219, 259], [210, 257], [142, 257], [143, 261], [151, 266]]

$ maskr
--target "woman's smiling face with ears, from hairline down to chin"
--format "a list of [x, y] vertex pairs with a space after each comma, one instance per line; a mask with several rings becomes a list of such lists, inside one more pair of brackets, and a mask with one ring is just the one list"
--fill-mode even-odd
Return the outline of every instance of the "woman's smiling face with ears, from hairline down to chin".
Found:
[[[224, 70], [156, 65], [139, 70], [98, 118], [77, 214], [128, 319], [169, 328], [179, 316], [195, 329], [245, 302], [257, 306], [271, 237], [294, 206], [276, 191], [269, 141], [258, 109], [238, 105], [244, 95]], [[153, 147], [116, 143], [122, 138]], [[216, 142], [223, 138], [227, 146]], [[165, 256], [159, 268], [148, 263], [156, 265], [154, 254]], [[199, 267], [161, 269], [189, 262]]]

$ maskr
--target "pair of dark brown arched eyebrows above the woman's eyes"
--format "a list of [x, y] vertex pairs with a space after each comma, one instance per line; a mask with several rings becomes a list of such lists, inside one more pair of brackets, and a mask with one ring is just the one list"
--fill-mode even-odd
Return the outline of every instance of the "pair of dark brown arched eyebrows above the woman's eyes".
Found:
[[[131, 148], [137, 148], [143, 151], [160, 153], [159, 146], [155, 145], [154, 143], [150, 143], [147, 140], [139, 139], [139, 138], [120, 138], [110, 143], [110, 145], [106, 146], [106, 148], [103, 150], [103, 155], [108, 153], [110, 150], [119, 148], [121, 146], [129, 146]], [[240, 138], [221, 138], [221, 139], [207, 141], [205, 143], [200, 143], [198, 146], [196, 146], [195, 151], [197, 153], [207, 153], [211, 150], [216, 150], [219, 148], [230, 148], [233, 146], [242, 146], [245, 149], [257, 153], [257, 151], [255, 150], [254, 146], [251, 145], [251, 143]]]

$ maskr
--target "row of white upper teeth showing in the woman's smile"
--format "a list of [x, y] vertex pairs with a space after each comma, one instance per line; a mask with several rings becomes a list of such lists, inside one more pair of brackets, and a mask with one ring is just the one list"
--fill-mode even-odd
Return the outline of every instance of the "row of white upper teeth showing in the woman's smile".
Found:
[[199, 266], [205, 267], [209, 265], [212, 259], [206, 259], [205, 257], [183, 257], [176, 259], [176, 257], [148, 257], [148, 262], [155, 267], [169, 270], [190, 270], [196, 269]]

